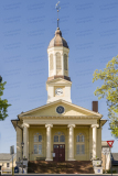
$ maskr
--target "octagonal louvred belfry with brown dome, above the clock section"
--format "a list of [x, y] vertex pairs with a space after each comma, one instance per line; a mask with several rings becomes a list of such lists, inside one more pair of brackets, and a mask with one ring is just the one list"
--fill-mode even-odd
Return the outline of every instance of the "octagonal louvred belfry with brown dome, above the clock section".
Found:
[[55, 36], [47, 47], [49, 54], [49, 78], [53, 76], [68, 77], [68, 45], [62, 37], [62, 32], [57, 28]]

